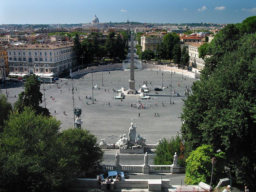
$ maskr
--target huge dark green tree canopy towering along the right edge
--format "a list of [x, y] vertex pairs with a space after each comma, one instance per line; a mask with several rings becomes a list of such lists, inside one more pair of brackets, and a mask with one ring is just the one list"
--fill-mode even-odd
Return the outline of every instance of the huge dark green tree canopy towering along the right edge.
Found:
[[236, 24], [215, 35], [181, 115], [186, 149], [202, 144], [221, 149], [232, 175], [244, 184], [254, 184], [256, 174], [255, 42], [255, 34], [240, 33]]

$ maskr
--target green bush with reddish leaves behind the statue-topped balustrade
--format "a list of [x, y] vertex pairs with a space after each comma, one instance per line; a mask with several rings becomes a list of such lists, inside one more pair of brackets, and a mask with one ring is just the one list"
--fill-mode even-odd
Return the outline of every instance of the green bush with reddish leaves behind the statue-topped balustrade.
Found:
[[172, 137], [171, 140], [162, 139], [156, 147], [154, 157], [154, 164], [156, 165], [171, 165], [173, 163], [173, 156], [177, 152], [178, 165], [185, 166], [185, 148], [182, 144], [182, 141], [177, 134], [175, 137]]

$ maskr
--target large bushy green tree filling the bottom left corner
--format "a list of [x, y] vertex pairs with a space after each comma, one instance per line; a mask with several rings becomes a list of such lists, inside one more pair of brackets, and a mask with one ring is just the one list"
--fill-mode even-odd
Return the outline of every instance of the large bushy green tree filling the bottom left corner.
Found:
[[60, 121], [31, 108], [10, 116], [0, 135], [1, 191], [52, 191], [64, 184], [55, 148], [59, 128]]

